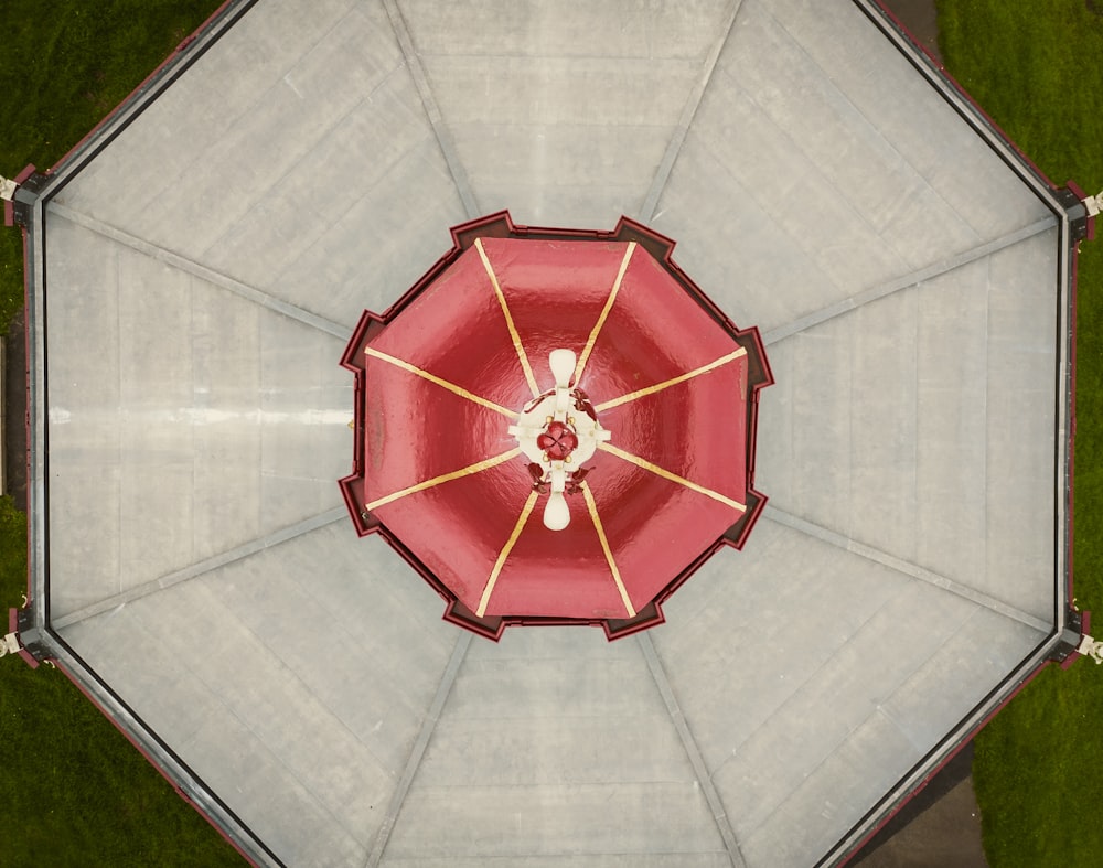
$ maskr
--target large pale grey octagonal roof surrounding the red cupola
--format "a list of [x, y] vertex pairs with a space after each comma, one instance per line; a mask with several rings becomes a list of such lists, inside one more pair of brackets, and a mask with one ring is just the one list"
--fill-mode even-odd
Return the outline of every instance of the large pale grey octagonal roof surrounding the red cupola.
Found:
[[[839, 861], [1065, 626], [1065, 202], [867, 0], [231, 2], [21, 206], [39, 652], [258, 864]], [[770, 506], [624, 642], [473, 640], [333, 484], [499, 208], [763, 331]]]

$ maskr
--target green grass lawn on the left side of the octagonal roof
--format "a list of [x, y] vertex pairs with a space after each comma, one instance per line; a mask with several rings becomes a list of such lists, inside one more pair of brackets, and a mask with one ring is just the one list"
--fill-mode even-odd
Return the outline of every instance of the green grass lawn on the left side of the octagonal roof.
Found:
[[[219, 0], [0, 0], [0, 172], [56, 163]], [[0, 232], [0, 333], [23, 304], [20, 233]], [[0, 614], [26, 589], [26, 518], [0, 499]], [[0, 661], [0, 865], [240, 866], [60, 672]]]

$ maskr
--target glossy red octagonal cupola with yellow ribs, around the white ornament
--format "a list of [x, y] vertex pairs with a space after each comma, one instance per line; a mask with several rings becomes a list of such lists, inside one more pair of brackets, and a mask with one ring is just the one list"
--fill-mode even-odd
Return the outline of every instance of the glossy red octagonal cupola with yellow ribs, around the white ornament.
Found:
[[[389, 311], [365, 313], [342, 361], [357, 377], [353, 473], [341, 481], [357, 531], [382, 532], [450, 601], [446, 618], [483, 635], [496, 639], [506, 623], [601, 624], [610, 636], [661, 623], [662, 601], [725, 543], [741, 545], [765, 500], [751, 490], [757, 395], [772, 382], [757, 331], [737, 331], [670, 260], [673, 243], [630, 221], [614, 233], [586, 233], [516, 227], [499, 214], [452, 235], [453, 250]], [[583, 355], [636, 242], [572, 386], [598, 407], [611, 446], [748, 505], [739, 511], [600, 450], [582, 462], [631, 610], [581, 492], [567, 495], [566, 529], [544, 526], [543, 490], [518, 529], [533, 492], [524, 454], [376, 503], [517, 447], [507, 429], [534, 394], [476, 239], [538, 393], [555, 386], [553, 350]], [[737, 351], [739, 357], [692, 379], [600, 409]], [[540, 449], [563, 444], [566, 454], [577, 447], [570, 430], [549, 426], [547, 433]]]

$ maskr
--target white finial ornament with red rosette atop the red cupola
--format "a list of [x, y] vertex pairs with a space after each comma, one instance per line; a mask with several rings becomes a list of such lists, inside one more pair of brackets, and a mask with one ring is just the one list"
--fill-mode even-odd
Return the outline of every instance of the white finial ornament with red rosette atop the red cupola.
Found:
[[589, 473], [582, 463], [593, 458], [598, 443], [611, 433], [601, 427], [589, 398], [579, 388], [571, 388], [577, 356], [570, 350], [554, 350], [548, 366], [555, 377], [555, 388], [531, 401], [510, 426], [522, 453], [528, 459], [533, 490], [547, 493], [544, 526], [563, 531], [570, 524], [566, 494], [581, 491], [580, 483]]

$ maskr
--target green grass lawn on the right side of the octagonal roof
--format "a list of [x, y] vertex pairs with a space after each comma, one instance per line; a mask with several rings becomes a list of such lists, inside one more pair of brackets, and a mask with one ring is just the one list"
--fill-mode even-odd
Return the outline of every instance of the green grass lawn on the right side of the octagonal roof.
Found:
[[[1103, 187], [1103, 2], [940, 0], [947, 69], [1049, 178]], [[1100, 223], [1103, 235], [1103, 221]], [[1103, 238], [1078, 297], [1075, 596], [1103, 628]], [[1050, 667], [977, 737], [992, 868], [1103, 865], [1103, 668]]]

